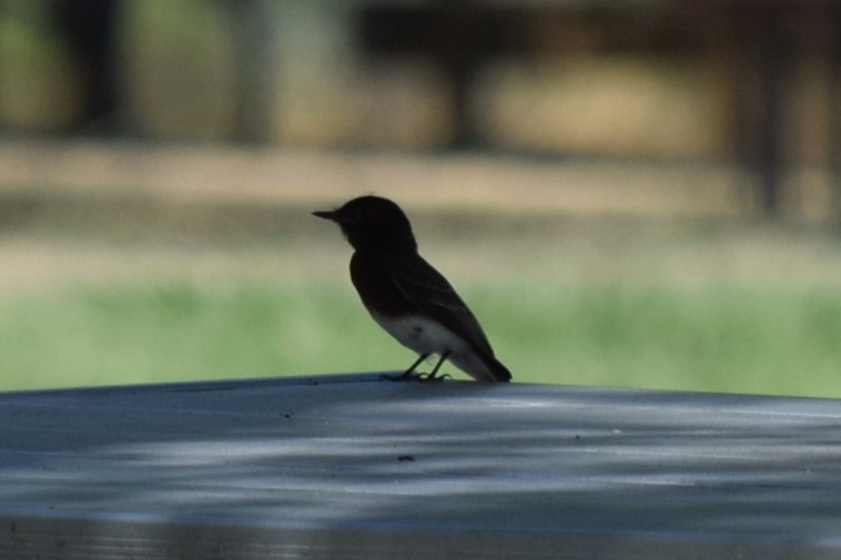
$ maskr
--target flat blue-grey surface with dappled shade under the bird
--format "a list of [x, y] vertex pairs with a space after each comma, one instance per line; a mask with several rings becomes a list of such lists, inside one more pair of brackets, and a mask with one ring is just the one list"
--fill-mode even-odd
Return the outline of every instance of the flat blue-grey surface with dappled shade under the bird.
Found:
[[324, 376], [0, 395], [0, 558], [841, 558], [841, 401]]

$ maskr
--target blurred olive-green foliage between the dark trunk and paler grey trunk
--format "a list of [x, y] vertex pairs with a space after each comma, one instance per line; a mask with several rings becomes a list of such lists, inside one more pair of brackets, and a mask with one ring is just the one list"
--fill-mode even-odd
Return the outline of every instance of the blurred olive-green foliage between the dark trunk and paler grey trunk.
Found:
[[216, 2], [125, 2], [129, 120], [160, 139], [224, 138], [234, 119], [231, 30]]

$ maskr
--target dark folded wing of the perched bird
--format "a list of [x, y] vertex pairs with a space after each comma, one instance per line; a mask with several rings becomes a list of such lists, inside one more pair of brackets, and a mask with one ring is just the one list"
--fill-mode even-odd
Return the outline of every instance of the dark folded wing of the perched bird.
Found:
[[449, 282], [419, 255], [385, 263], [389, 278], [406, 299], [424, 315], [462, 336], [475, 349], [494, 356], [479, 322]]

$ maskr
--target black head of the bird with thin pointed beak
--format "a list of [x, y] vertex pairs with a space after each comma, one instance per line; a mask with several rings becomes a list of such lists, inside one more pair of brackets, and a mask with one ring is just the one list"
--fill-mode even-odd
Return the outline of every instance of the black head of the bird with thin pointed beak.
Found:
[[397, 204], [379, 196], [359, 196], [333, 211], [313, 215], [338, 224], [357, 251], [387, 252], [417, 248], [412, 224]]

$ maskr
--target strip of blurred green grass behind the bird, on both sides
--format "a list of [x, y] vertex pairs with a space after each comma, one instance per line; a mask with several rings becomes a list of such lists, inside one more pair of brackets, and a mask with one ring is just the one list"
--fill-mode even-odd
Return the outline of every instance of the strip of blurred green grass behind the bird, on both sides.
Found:
[[[841, 396], [837, 289], [508, 282], [459, 288], [518, 381]], [[345, 278], [6, 294], [0, 356], [0, 389], [397, 369], [413, 358]]]

